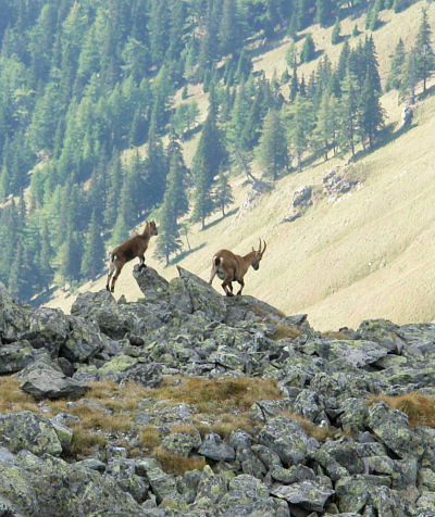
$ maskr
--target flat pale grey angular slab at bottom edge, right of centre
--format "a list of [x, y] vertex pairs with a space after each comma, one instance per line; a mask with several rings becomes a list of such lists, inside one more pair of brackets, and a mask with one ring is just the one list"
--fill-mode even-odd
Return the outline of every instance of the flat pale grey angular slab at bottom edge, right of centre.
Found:
[[323, 512], [327, 500], [334, 495], [335, 491], [322, 487], [315, 481], [307, 480], [287, 486], [273, 486], [271, 493], [304, 509]]

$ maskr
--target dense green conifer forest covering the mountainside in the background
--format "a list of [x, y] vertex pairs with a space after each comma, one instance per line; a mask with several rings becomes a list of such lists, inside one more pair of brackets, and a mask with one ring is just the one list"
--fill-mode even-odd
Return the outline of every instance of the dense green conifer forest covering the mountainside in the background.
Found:
[[[313, 159], [382, 144], [383, 89], [412, 101], [435, 70], [422, 10], [413, 47], [398, 39], [382, 86], [371, 33], [382, 10], [411, 3], [0, 0], [0, 281], [40, 303], [53, 286], [101, 275], [108, 252], [147, 217], [169, 264], [186, 225], [225, 216], [229, 176], [252, 178], [252, 161], [273, 185]], [[337, 45], [340, 21], [356, 13], [364, 36], [355, 30], [336, 63], [319, 55], [307, 29], [334, 27]], [[287, 68], [268, 79], [252, 60], [283, 36]], [[208, 96], [204, 114], [194, 85]]]

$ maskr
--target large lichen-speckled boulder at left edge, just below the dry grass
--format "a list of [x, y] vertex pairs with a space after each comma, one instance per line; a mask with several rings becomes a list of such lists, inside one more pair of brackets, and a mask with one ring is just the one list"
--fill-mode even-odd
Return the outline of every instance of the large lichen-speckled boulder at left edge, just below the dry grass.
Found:
[[0, 414], [0, 444], [12, 453], [26, 450], [36, 455], [62, 452], [54, 426], [47, 418], [29, 411]]

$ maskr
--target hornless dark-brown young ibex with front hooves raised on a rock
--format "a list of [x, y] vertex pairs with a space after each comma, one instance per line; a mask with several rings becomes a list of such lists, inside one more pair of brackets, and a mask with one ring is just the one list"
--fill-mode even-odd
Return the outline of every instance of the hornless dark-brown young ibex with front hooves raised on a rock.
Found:
[[[109, 275], [105, 289], [109, 291], [114, 291], [115, 281], [120, 276], [122, 268], [127, 262], [139, 257], [139, 269], [146, 267], [144, 261], [144, 253], [147, 251], [149, 240], [152, 236], [157, 236], [157, 226], [153, 220], [145, 223], [145, 229], [142, 234], [138, 234], [135, 237], [126, 240], [122, 244], [117, 245], [112, 253], [110, 254], [110, 264], [109, 264]], [[113, 275], [114, 274], [114, 275]], [[112, 278], [112, 287], [109, 289], [110, 279]]]

